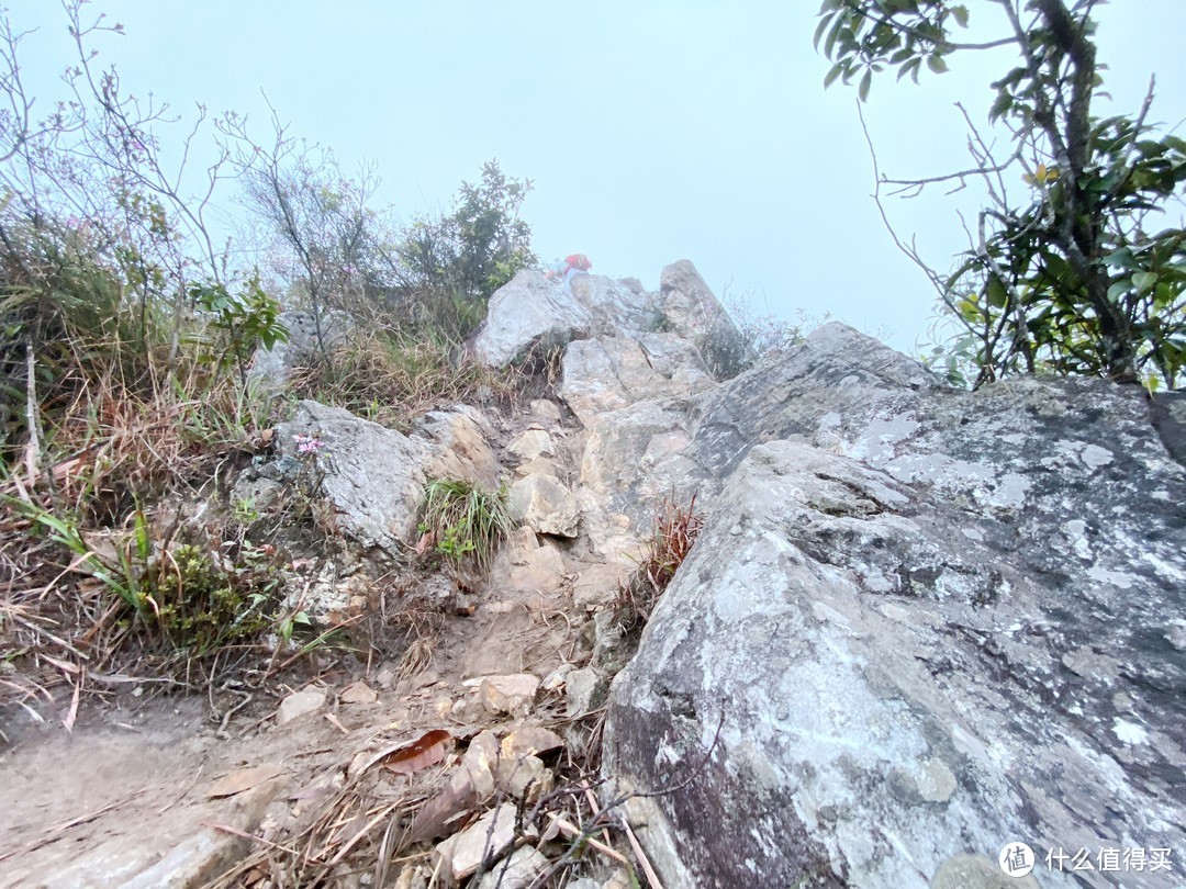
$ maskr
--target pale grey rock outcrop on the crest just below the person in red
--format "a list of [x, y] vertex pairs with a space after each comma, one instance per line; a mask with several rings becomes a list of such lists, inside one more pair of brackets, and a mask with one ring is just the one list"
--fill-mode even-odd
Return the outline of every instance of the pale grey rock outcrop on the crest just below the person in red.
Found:
[[629, 283], [578, 275], [566, 289], [523, 269], [490, 298], [474, 352], [483, 364], [500, 367], [581, 337], [653, 330], [657, 319], [653, 295]]

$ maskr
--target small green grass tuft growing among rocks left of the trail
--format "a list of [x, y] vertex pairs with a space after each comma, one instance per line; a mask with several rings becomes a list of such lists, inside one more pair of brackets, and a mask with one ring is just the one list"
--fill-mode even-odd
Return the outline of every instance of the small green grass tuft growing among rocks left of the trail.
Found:
[[433, 551], [454, 568], [470, 559], [479, 571], [490, 568], [499, 541], [512, 523], [506, 512], [506, 491], [487, 493], [467, 481], [436, 479], [425, 488], [417, 530], [417, 551]]

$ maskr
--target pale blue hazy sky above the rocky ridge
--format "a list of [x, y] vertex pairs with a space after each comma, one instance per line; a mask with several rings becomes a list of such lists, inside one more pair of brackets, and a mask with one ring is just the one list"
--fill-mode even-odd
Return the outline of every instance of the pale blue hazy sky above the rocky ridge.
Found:
[[[977, 36], [1000, 11], [968, 0]], [[62, 94], [71, 50], [55, 0], [8, 0], [33, 91]], [[528, 178], [522, 207], [548, 262], [585, 252], [593, 271], [658, 286], [691, 260], [720, 296], [759, 314], [824, 314], [911, 351], [936, 294], [903, 256], [871, 198], [874, 177], [855, 90], [823, 89], [812, 49], [817, 0], [94, 0], [125, 26], [94, 41], [126, 90], [192, 119], [247, 114], [267, 135], [274, 107], [289, 133], [332, 148], [346, 171], [378, 165], [378, 203], [398, 218], [447, 211], [463, 180], [497, 159]], [[1135, 113], [1158, 75], [1150, 121], [1186, 119], [1182, 0], [1114, 0], [1097, 18], [1109, 65], [1099, 115]], [[1007, 51], [962, 53], [922, 85], [874, 82], [865, 116], [884, 173], [929, 177], [968, 166], [956, 101], [987, 119]], [[1179, 129], [1179, 134], [1186, 127]], [[234, 188], [219, 219], [241, 212]], [[899, 236], [945, 271], [967, 247], [957, 207], [969, 190], [887, 204]]]

